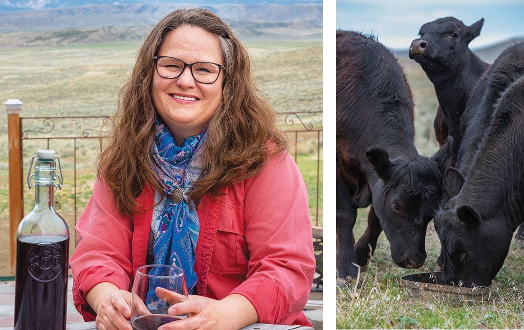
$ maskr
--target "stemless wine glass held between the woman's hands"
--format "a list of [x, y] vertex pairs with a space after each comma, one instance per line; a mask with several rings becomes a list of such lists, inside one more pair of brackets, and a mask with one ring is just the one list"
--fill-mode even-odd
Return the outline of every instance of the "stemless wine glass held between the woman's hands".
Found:
[[131, 325], [135, 330], [156, 330], [163, 324], [187, 317], [187, 314], [169, 315], [167, 312], [171, 305], [188, 299], [181, 268], [141, 266], [136, 271], [131, 292]]

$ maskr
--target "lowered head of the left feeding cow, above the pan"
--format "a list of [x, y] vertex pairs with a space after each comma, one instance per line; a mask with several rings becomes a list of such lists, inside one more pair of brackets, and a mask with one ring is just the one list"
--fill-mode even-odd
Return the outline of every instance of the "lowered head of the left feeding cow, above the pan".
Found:
[[374, 170], [369, 186], [373, 207], [389, 240], [391, 258], [404, 268], [419, 268], [426, 258], [425, 233], [441, 195], [442, 174], [436, 161], [390, 159], [380, 148], [366, 157]]

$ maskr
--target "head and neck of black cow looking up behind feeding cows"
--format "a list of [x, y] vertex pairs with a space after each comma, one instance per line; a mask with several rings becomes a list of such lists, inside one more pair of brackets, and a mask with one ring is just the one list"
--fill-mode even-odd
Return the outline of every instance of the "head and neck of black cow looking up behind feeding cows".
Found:
[[433, 83], [439, 107], [433, 124], [435, 136], [442, 146], [453, 136], [456, 157], [462, 142], [460, 119], [467, 100], [489, 64], [468, 48], [480, 33], [484, 18], [471, 26], [454, 17], [425, 23], [420, 38], [411, 42], [409, 58], [420, 64]]

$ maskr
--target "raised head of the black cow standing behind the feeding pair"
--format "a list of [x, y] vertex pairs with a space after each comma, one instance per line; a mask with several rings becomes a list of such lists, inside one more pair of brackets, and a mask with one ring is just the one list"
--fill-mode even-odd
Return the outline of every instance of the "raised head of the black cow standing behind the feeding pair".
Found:
[[484, 18], [467, 26], [454, 17], [425, 23], [419, 30], [420, 38], [411, 42], [409, 58], [418, 62], [432, 80], [432, 73], [448, 72], [455, 63], [463, 63], [469, 43], [480, 35], [483, 24]]

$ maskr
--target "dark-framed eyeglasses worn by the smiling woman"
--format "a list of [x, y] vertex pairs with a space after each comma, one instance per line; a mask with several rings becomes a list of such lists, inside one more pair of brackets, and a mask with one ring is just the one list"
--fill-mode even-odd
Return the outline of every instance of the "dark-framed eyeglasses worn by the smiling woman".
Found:
[[185, 63], [169, 56], [154, 56], [157, 73], [162, 78], [173, 79], [182, 74], [185, 67], [189, 67], [194, 80], [203, 84], [212, 84], [219, 79], [220, 71], [226, 68], [212, 62]]

